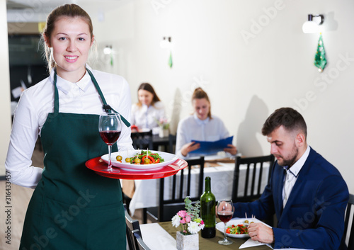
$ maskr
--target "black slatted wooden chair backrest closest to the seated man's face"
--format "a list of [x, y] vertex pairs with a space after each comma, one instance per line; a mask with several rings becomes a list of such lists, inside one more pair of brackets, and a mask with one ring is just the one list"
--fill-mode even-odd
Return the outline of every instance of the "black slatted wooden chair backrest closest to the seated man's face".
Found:
[[[273, 154], [263, 157], [236, 157], [235, 170], [234, 170], [234, 182], [232, 186], [232, 200], [234, 202], [249, 202], [260, 198], [263, 190], [261, 190], [261, 183], [263, 177], [263, 164], [269, 162], [268, 181], [270, 179], [271, 169], [274, 164]], [[246, 164], [246, 179], [244, 180], [244, 194], [238, 197], [239, 192], [239, 176], [240, 166]], [[259, 169], [259, 170], [258, 170]], [[252, 171], [252, 174], [250, 172]], [[258, 180], [256, 180], [256, 174], [258, 173]], [[249, 183], [251, 182], [251, 191], [249, 190]], [[256, 185], [257, 184], [257, 185]]]

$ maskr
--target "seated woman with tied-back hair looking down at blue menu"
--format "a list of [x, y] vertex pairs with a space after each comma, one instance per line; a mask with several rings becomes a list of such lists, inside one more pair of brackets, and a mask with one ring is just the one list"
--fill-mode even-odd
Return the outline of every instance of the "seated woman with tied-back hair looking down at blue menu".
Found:
[[[182, 158], [198, 155], [193, 151], [199, 149], [200, 144], [192, 142], [193, 140], [214, 142], [229, 137], [222, 120], [212, 115], [209, 97], [201, 88], [195, 89], [192, 105], [193, 115], [181, 120], [177, 128], [176, 154]], [[233, 144], [227, 144], [224, 152], [234, 155], [237, 149]]]

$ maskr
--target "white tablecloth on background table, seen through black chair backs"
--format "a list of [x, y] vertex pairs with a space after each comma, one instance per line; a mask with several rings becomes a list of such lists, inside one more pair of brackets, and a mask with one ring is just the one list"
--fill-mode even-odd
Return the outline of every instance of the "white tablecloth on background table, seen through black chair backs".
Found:
[[[204, 176], [210, 176], [212, 193], [215, 195], [216, 200], [228, 199], [232, 197], [232, 183], [234, 182], [234, 168], [235, 164], [218, 163], [220, 166], [212, 166], [204, 168]], [[268, 181], [269, 164], [263, 164], [262, 184], [261, 191], [263, 191]], [[198, 192], [198, 176], [199, 169], [192, 169], [190, 195], [193, 197]], [[188, 169], [184, 171], [185, 185], [187, 183]], [[249, 186], [251, 186], [251, 175], [253, 171], [251, 168]], [[181, 171], [178, 172], [178, 175]], [[256, 180], [258, 179], [259, 166], [257, 166]], [[240, 166], [239, 178], [239, 192], [238, 196], [244, 194], [244, 181], [246, 178], [246, 165]], [[172, 176], [165, 178], [164, 198], [168, 199], [171, 195]], [[204, 188], [202, 189], [204, 191]], [[249, 191], [251, 192], [251, 191]], [[183, 195], [185, 197], [185, 195]], [[130, 202], [130, 212], [134, 215], [136, 209], [151, 208], [159, 205], [159, 179], [151, 180], [136, 180], [135, 193]]]

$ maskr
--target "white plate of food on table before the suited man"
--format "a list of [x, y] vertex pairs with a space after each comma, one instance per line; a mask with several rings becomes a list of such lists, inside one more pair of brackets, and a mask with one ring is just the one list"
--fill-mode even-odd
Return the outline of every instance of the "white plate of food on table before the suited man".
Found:
[[[227, 222], [226, 225], [226, 234], [228, 237], [234, 238], [247, 238], [249, 237], [249, 231], [247, 227], [249, 227], [250, 223], [259, 222], [257, 219], [233, 219]], [[219, 222], [216, 225], [216, 228], [224, 234], [224, 222]]]

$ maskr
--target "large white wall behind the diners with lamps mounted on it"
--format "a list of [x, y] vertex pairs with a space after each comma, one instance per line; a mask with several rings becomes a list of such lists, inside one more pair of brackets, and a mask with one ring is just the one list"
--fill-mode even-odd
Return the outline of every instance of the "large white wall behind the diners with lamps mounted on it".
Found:
[[[353, 9], [349, 0], [137, 0], [105, 13], [94, 27], [100, 45], [116, 51], [110, 71], [130, 82], [134, 101], [142, 81], [153, 84], [173, 130], [192, 111], [197, 84], [246, 156], [269, 153], [260, 130], [273, 110], [297, 108], [309, 144], [337, 166], [354, 193]], [[313, 65], [319, 34], [302, 33], [309, 13], [324, 14], [327, 28], [337, 24], [323, 32], [323, 73]], [[246, 32], [249, 39], [241, 35]], [[159, 47], [164, 36], [172, 37], [172, 69], [169, 51]]]

